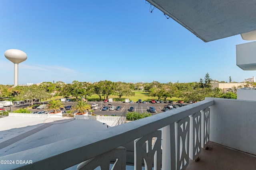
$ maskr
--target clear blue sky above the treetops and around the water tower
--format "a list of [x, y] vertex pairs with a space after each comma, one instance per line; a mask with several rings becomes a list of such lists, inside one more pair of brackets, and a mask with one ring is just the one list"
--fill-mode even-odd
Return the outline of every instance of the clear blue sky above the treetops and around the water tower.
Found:
[[242, 82], [256, 76], [236, 66], [240, 35], [204, 43], [144, 0], [8, 0], [0, 2], [0, 84], [13, 84], [4, 57], [20, 49], [19, 84], [28, 82]]

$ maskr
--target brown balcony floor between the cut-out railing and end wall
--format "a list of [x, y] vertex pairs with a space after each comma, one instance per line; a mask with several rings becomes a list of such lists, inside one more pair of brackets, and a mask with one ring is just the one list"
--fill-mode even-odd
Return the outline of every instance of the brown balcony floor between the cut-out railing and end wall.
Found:
[[200, 160], [190, 160], [186, 170], [256, 170], [256, 156], [210, 142]]

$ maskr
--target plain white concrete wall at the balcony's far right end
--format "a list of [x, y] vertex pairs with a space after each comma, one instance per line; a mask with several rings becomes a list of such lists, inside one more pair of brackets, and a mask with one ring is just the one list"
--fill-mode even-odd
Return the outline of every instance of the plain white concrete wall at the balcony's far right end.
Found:
[[210, 141], [256, 154], [256, 102], [214, 99], [210, 106]]

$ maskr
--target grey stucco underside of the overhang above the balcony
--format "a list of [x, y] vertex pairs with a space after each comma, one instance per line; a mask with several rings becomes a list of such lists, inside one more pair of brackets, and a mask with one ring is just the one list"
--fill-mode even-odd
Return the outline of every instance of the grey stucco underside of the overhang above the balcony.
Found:
[[204, 42], [256, 30], [256, 0], [147, 0]]

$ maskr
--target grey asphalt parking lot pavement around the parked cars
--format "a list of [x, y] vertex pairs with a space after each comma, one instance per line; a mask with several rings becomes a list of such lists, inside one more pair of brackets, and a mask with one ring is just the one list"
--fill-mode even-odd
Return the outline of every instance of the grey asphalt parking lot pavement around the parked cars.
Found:
[[[46, 102], [45, 102], [46, 103]], [[62, 102], [65, 106], [72, 106], [74, 104], [74, 102]], [[98, 104], [99, 108], [94, 110], [93, 113], [95, 115], [117, 115], [117, 116], [121, 116], [123, 115], [124, 113], [127, 113], [128, 112], [128, 109], [130, 106], [134, 107], [134, 112], [138, 112], [138, 113], [150, 113], [150, 106], [154, 106], [154, 108], [156, 109], [156, 112], [155, 113], [151, 113], [152, 115], [155, 115], [155, 114], [158, 114], [158, 113], [161, 113], [163, 112], [162, 109], [167, 106], [168, 104], [164, 103], [164, 104], [151, 104], [150, 102], [146, 102], [144, 104], [142, 103], [136, 103], [136, 102], [132, 102], [132, 103], [124, 103], [124, 102], [116, 102], [116, 101], [113, 101], [113, 102], [107, 102], [107, 103], [104, 103], [103, 101], [102, 102], [88, 102], [90, 105], [92, 104]], [[42, 103], [41, 103], [42, 104]], [[177, 104], [178, 106], [180, 106], [180, 104], [178, 104], [177, 102], [174, 102], [173, 104]], [[184, 103], [185, 105], [187, 105], [188, 103]], [[22, 105], [15, 105], [15, 106], [12, 106], [12, 110], [17, 110], [19, 108], [25, 108], [25, 107], [28, 107], [27, 106], [28, 104], [22, 104]], [[108, 106], [108, 107], [111, 107], [111, 106], [121, 106], [122, 108], [120, 110], [110, 110], [110, 109], [107, 109], [106, 111], [103, 111], [102, 110], [102, 107], [104, 106]], [[6, 110], [10, 110], [10, 107], [5, 107]], [[29, 109], [31, 112], [33, 111], [43, 111], [43, 110], [46, 110], [46, 109]], [[67, 111], [66, 109], [62, 110], [62, 111]]]

